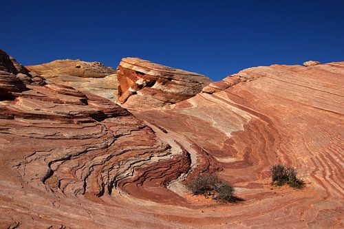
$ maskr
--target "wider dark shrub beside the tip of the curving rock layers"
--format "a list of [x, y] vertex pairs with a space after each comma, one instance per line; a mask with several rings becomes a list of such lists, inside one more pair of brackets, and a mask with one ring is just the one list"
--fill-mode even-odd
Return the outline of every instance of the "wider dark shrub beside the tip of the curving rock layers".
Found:
[[242, 200], [234, 195], [234, 188], [226, 182], [220, 181], [217, 175], [203, 174], [191, 179], [187, 187], [193, 195], [212, 196], [222, 202], [236, 202]]

